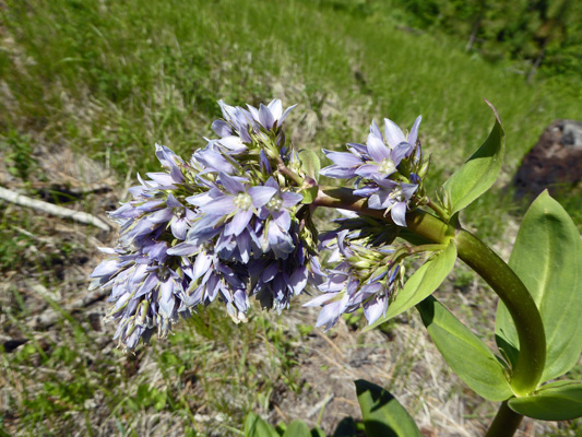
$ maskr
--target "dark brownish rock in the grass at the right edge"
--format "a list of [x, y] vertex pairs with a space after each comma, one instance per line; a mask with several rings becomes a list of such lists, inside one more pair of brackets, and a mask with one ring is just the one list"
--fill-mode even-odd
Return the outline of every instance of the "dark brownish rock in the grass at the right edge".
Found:
[[556, 120], [522, 161], [513, 185], [515, 197], [570, 189], [582, 180], [582, 122]]

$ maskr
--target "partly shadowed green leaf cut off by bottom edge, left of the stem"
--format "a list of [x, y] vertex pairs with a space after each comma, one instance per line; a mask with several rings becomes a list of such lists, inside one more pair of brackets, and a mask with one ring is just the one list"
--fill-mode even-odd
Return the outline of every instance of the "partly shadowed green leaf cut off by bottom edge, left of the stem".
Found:
[[367, 436], [421, 437], [414, 420], [396, 398], [364, 379], [355, 383]]

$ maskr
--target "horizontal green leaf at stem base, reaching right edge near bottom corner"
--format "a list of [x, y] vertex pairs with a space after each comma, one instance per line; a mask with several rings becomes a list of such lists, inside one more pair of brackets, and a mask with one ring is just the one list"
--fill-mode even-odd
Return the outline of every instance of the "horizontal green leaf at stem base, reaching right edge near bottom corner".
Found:
[[582, 382], [556, 381], [525, 398], [512, 398], [515, 413], [541, 421], [570, 421], [582, 416]]

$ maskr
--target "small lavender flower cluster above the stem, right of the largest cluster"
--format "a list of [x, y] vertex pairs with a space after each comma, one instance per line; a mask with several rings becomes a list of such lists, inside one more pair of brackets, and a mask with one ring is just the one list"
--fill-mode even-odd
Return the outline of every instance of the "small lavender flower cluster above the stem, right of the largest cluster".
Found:
[[[399, 226], [406, 226], [406, 210], [421, 196], [423, 177], [428, 163], [423, 163], [418, 139], [418, 117], [407, 137], [388, 118], [384, 134], [372, 121], [366, 144], [348, 143], [349, 152], [325, 151], [334, 163], [320, 174], [338, 179], [354, 179], [354, 193], [368, 198], [368, 206], [390, 212]], [[416, 194], [416, 196], [415, 196]]]

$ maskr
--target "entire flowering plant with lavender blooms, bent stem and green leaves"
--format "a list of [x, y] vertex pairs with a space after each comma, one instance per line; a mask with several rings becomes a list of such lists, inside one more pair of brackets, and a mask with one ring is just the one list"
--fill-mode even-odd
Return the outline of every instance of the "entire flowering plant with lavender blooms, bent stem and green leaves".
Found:
[[[288, 144], [283, 110], [274, 99], [259, 108], [219, 102], [217, 138], [189, 161], [156, 145], [164, 168], [138, 176], [132, 200], [110, 216], [120, 225], [116, 247], [93, 272], [92, 287], [110, 287], [115, 338], [126, 350], [157, 330], [170, 332], [200, 305], [219, 300], [236, 322], [249, 299], [281, 312], [310, 284], [321, 294], [317, 326], [363, 308], [369, 327], [416, 307], [452, 369], [485, 399], [501, 401], [487, 436], [511, 436], [523, 415], [569, 420], [582, 415], [582, 383], [556, 379], [582, 352], [582, 244], [575, 225], [546, 192], [532, 204], [506, 264], [462, 228], [459, 212], [495, 182], [504, 151], [496, 123], [480, 149], [443, 185], [437, 200], [426, 194], [420, 117], [406, 135], [384, 119], [372, 121], [366, 144], [317, 154]], [[345, 179], [352, 188], [319, 184]], [[343, 182], [344, 185], [346, 182]], [[345, 217], [318, 236], [316, 208], [340, 209]], [[320, 253], [326, 251], [325, 264]], [[405, 273], [411, 257], [425, 262]], [[431, 294], [462, 259], [499, 295], [499, 355]], [[547, 340], [547, 342], [546, 342]], [[368, 436], [420, 436], [412, 417], [388, 392], [356, 381]], [[313, 430], [314, 433], [316, 430]], [[321, 430], [317, 430], [322, 435]], [[296, 421], [285, 436], [309, 436]], [[245, 434], [277, 436], [249, 415]]]

